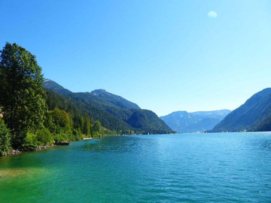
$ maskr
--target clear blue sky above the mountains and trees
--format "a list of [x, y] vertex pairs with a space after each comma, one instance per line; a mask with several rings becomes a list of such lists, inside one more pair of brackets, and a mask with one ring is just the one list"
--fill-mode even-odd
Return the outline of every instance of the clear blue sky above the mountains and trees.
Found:
[[0, 0], [0, 13], [1, 49], [26, 48], [45, 78], [158, 116], [233, 110], [271, 87], [271, 1]]

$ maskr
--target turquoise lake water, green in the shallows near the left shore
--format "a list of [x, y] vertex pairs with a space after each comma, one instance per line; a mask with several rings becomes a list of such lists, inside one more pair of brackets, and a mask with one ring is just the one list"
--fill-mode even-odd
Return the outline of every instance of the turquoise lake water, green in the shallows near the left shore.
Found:
[[0, 202], [271, 202], [271, 132], [111, 136], [0, 157]]

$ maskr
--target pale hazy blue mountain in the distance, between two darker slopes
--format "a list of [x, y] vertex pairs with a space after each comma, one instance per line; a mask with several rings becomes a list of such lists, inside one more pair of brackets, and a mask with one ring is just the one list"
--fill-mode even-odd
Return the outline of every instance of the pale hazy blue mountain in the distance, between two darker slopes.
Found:
[[160, 118], [174, 131], [180, 133], [203, 132], [213, 129], [230, 110], [223, 109], [217, 111], [196, 111], [188, 113], [187, 111], [175, 111], [167, 116]]

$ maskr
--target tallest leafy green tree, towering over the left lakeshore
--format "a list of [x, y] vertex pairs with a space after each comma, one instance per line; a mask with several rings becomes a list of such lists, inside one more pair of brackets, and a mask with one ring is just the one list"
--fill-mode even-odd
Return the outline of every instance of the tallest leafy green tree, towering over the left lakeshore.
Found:
[[18, 148], [27, 131], [43, 126], [47, 105], [42, 98], [42, 69], [35, 56], [16, 43], [7, 42], [0, 53], [0, 106]]

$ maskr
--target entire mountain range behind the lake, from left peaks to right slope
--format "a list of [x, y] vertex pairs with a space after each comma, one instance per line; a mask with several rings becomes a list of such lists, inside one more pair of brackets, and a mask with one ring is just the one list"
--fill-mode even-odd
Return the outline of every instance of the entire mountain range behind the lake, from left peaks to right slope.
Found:
[[132, 130], [140, 134], [271, 131], [271, 88], [257, 92], [233, 111], [175, 111], [159, 119], [154, 112], [140, 109], [137, 104], [103, 89], [74, 93], [50, 79], [44, 80], [43, 87], [68, 98], [93, 121], [98, 120], [103, 127], [114, 131]]

